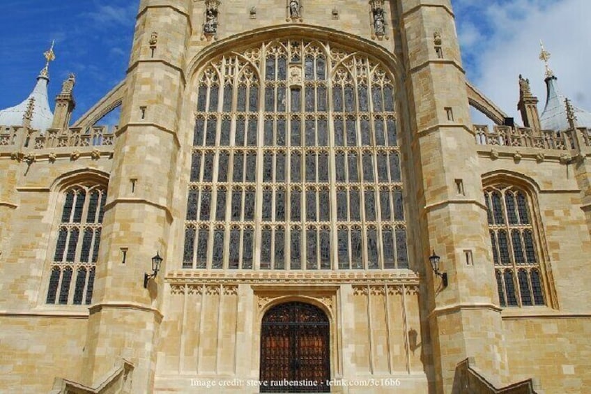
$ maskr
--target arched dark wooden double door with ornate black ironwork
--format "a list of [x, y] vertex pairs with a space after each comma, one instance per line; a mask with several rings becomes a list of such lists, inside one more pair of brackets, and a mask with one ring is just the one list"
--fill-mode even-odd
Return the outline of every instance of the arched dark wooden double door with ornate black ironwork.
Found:
[[314, 305], [277, 305], [263, 317], [261, 393], [328, 393], [330, 325]]

